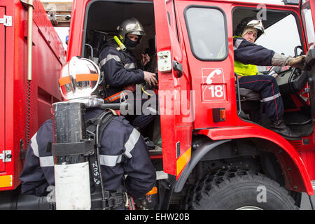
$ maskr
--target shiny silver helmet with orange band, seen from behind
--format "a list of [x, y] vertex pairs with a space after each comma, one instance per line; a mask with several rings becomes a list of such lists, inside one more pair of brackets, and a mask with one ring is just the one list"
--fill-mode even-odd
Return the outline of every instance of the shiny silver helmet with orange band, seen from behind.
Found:
[[101, 72], [90, 59], [72, 57], [59, 72], [59, 90], [65, 100], [83, 102], [85, 106], [104, 103], [99, 97]]

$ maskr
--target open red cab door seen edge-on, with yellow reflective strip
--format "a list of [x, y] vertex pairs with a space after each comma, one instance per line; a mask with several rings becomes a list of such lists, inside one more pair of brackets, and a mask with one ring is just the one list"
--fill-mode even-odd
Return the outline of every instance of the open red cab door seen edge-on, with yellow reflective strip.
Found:
[[190, 161], [193, 92], [173, 1], [154, 0], [163, 169], [179, 178]]

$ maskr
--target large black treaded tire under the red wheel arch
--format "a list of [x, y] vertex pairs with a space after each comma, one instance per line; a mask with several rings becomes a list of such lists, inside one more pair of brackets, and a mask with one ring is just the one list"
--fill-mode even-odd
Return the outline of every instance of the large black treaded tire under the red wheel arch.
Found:
[[190, 186], [181, 209], [295, 210], [295, 201], [279, 183], [263, 174], [241, 169], [220, 169]]

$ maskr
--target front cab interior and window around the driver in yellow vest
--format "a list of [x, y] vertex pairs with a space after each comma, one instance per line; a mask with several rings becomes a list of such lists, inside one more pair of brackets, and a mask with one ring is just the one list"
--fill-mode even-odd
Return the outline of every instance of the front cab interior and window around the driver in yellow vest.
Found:
[[[239, 36], [240, 22], [246, 18], [256, 19], [258, 10], [256, 8], [235, 8], [233, 11], [233, 36]], [[302, 41], [302, 28], [296, 22], [297, 15], [288, 11], [268, 10], [265, 12], [265, 34], [262, 34], [255, 43], [265, 48], [274, 50], [283, 55], [298, 56], [305, 55]], [[290, 22], [293, 29], [282, 29], [283, 24]], [[296, 26], [294, 25], [296, 24]], [[279, 33], [281, 32], [281, 33]], [[281, 36], [281, 38], [279, 38]], [[283, 99], [284, 114], [283, 121], [300, 137], [307, 137], [313, 132], [311, 118], [311, 107], [309, 104], [309, 89], [307, 85], [308, 75], [306, 71], [295, 69], [290, 66], [258, 66], [262, 74], [276, 72], [276, 82], [279, 85]], [[242, 90], [236, 84], [238, 114], [241, 119], [258, 123], [263, 127], [269, 127], [270, 120], [264, 115], [264, 109], [260, 107], [260, 94], [258, 92]], [[297, 140], [297, 139], [291, 139]]]

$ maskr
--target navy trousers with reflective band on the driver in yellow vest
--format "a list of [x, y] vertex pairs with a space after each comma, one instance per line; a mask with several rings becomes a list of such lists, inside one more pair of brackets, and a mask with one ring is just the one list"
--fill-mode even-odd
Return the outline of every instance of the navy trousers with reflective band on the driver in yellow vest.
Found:
[[269, 75], [241, 76], [239, 87], [260, 92], [262, 106], [265, 107], [265, 113], [272, 122], [282, 118], [283, 101], [276, 78]]

